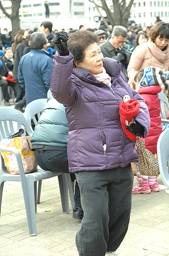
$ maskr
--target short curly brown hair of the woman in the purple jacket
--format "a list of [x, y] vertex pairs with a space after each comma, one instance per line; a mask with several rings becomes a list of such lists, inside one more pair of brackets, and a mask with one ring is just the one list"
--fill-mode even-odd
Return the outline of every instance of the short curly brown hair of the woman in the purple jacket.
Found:
[[99, 36], [91, 31], [76, 31], [69, 36], [68, 49], [74, 56], [74, 61], [83, 62], [85, 49], [92, 43], [99, 43]]

